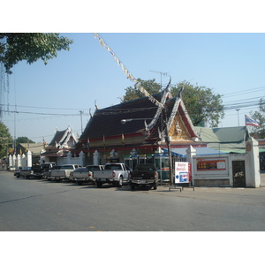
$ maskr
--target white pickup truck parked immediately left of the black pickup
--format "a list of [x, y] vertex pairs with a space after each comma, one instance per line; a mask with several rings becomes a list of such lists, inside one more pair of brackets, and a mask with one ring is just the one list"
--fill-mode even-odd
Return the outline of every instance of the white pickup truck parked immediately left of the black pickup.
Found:
[[123, 186], [129, 180], [130, 169], [125, 163], [106, 163], [104, 170], [94, 172], [94, 180], [97, 187], [103, 183]]

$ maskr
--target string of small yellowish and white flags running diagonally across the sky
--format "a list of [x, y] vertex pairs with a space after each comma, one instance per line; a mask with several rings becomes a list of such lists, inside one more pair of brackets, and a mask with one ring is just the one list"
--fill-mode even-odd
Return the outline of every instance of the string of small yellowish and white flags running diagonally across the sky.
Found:
[[117, 58], [116, 54], [110, 49], [110, 47], [106, 44], [106, 42], [104, 42], [102, 37], [99, 34], [97, 34], [97, 33], [95, 33], [94, 36], [95, 36], [96, 39], [98, 39], [98, 41], [101, 43], [101, 45], [102, 45], [102, 47], [104, 49], [107, 49], [107, 50], [110, 51], [110, 54], [111, 54], [112, 57], [114, 57], [114, 60], [116, 61], [117, 65], [119, 65], [121, 67], [121, 69], [123, 70], [123, 72], [125, 72], [125, 75], [127, 76], [127, 79], [130, 79], [130, 80], [132, 80], [135, 83], [134, 87], [137, 88], [138, 90], [140, 90], [140, 92], [143, 95], [148, 96], [149, 101], [155, 103], [155, 105], [158, 106], [160, 110], [162, 110], [163, 109], [163, 104], [161, 102], [158, 102], [153, 95], [150, 95], [148, 93], [148, 91], [144, 87], [142, 87], [140, 85], [140, 81], [133, 77], [133, 74], [131, 72], [129, 72], [128, 69], [125, 67], [125, 64], [123, 64]]

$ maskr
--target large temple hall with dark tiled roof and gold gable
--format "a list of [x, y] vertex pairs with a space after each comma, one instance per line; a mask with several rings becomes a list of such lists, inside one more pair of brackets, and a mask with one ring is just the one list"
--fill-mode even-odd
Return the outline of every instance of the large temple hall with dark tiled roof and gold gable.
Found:
[[[82, 151], [86, 164], [95, 163], [95, 154], [100, 164], [124, 162], [132, 169], [136, 163], [155, 163], [160, 177], [169, 178], [169, 144], [174, 149], [207, 144], [199, 139], [181, 95], [172, 98], [167, 88], [153, 95], [163, 108], [148, 97], [97, 108], [72, 152]], [[182, 161], [174, 154], [174, 160]]]

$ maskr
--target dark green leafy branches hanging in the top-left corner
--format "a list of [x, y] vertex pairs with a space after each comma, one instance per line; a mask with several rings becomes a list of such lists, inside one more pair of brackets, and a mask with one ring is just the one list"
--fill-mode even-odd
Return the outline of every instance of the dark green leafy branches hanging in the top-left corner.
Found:
[[59, 34], [0, 33], [0, 62], [11, 74], [13, 65], [26, 60], [28, 64], [42, 59], [44, 64], [57, 57], [58, 50], [69, 50], [72, 40]]

